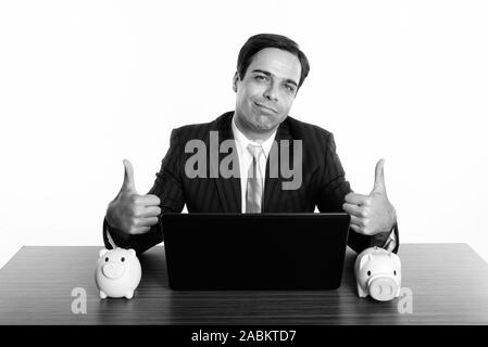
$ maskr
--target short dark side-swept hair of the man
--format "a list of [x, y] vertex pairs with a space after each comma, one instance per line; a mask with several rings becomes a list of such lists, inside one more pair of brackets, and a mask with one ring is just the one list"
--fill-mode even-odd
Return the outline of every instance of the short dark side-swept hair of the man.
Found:
[[246, 72], [251, 64], [254, 54], [265, 48], [277, 48], [290, 52], [298, 57], [302, 67], [300, 81], [298, 83], [298, 88], [300, 88], [310, 72], [309, 60], [306, 59], [305, 53], [300, 51], [297, 42], [286, 36], [276, 34], [258, 34], [251, 36], [246, 41], [240, 49], [239, 57], [237, 59], [237, 73], [239, 74], [239, 78], [242, 79], [246, 76]]

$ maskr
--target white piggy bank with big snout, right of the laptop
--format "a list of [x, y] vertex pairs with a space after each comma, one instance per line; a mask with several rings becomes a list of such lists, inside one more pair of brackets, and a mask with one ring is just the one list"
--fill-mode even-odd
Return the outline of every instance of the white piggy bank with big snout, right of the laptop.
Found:
[[401, 261], [396, 254], [378, 247], [366, 248], [355, 259], [354, 272], [360, 297], [371, 295], [388, 301], [400, 295]]

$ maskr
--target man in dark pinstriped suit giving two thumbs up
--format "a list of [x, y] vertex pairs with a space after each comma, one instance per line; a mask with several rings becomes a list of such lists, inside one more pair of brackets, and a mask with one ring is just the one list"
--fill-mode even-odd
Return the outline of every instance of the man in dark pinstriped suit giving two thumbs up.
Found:
[[[186, 204], [188, 213], [345, 210], [351, 216], [351, 248], [379, 246], [397, 252], [397, 217], [386, 194], [384, 160], [376, 165], [373, 191], [354, 193], [345, 179], [333, 134], [288, 116], [309, 69], [305, 54], [289, 38], [271, 34], [249, 38], [233, 80], [235, 112], [174, 129], [146, 195], [137, 193], [133, 167], [124, 160], [124, 183], [103, 222], [105, 246], [132, 247], [141, 254], [163, 241], [161, 214], [180, 213]], [[297, 177], [275, 170], [276, 163], [286, 158], [300, 165], [295, 187], [290, 183]], [[221, 171], [224, 167], [234, 175], [215, 172], [212, 160], [217, 160]]]

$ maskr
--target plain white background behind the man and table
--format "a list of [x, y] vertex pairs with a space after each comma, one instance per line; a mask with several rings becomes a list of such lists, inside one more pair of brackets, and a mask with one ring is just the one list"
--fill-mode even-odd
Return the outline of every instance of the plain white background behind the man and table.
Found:
[[135, 167], [145, 193], [173, 128], [234, 110], [258, 33], [300, 43], [290, 115], [334, 132], [347, 179], [386, 158], [401, 241], [488, 259], [486, 1], [1, 1], [0, 266], [22, 245], [101, 245]]

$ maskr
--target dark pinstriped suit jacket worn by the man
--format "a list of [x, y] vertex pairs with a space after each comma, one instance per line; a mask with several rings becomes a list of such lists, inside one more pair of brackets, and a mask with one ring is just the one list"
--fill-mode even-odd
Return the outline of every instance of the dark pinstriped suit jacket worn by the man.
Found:
[[[166, 156], [157, 174], [154, 185], [148, 194], [155, 194], [161, 200], [162, 214], [180, 213], [187, 205], [188, 213], [241, 213], [240, 178], [210, 178], [210, 165], [207, 167], [207, 178], [190, 179], [185, 175], [185, 163], [193, 153], [185, 153], [185, 144], [193, 139], [202, 140], [210, 149], [210, 131], [218, 131], [218, 142], [233, 139], [232, 118], [234, 112], [225, 113], [217, 119], [198, 125], [184, 126], [174, 129]], [[289, 140], [292, 151], [292, 140], [302, 140], [302, 184], [297, 190], [283, 190], [285, 180], [270, 177], [270, 158], [266, 165], [264, 183], [263, 213], [313, 213], [315, 206], [322, 213], [343, 211], [345, 196], [351, 192], [345, 171], [336, 154], [334, 137], [327, 130], [317, 126], [287, 117], [278, 127], [275, 141]], [[278, 146], [279, 147], [279, 146]], [[210, 151], [207, 156], [209, 158]], [[220, 159], [228, 155], [221, 153]], [[208, 162], [210, 163], [210, 162]], [[290, 159], [290, 163], [293, 163]], [[279, 170], [280, 171], [280, 170]], [[288, 179], [291, 181], [291, 178]], [[286, 181], [286, 180], [285, 180]], [[109, 230], [114, 242], [124, 248], [134, 248], [138, 254], [163, 241], [160, 222], [146, 234], [130, 235], [128, 241], [122, 241], [112, 232], [107, 221], [104, 230]], [[398, 229], [397, 252], [399, 246]], [[389, 232], [374, 236], [365, 236], [349, 232], [348, 245], [356, 252], [371, 246], [383, 246]], [[105, 246], [111, 248], [103, 232]]]

